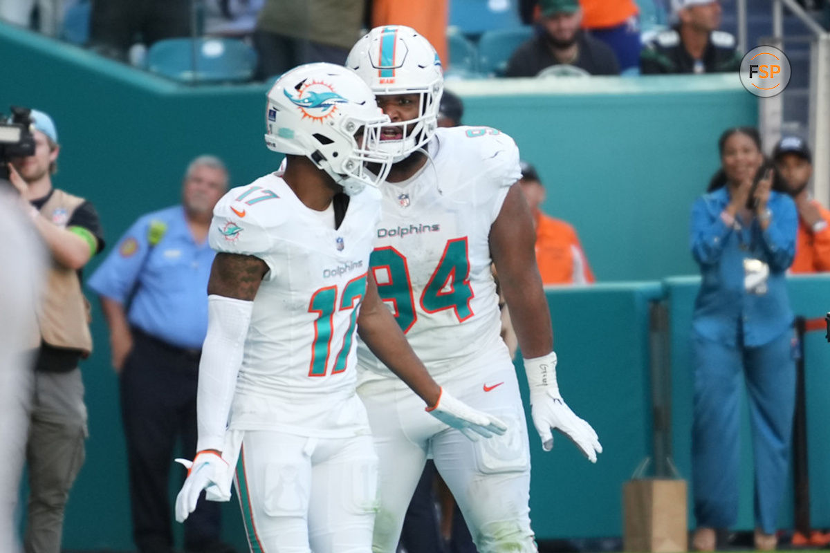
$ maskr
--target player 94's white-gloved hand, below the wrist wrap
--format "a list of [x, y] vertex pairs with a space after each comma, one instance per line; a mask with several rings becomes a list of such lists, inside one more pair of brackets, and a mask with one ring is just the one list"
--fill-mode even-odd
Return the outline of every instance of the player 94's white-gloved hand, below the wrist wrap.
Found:
[[599, 444], [599, 437], [591, 425], [574, 415], [562, 396], [552, 390], [538, 390], [530, 394], [530, 414], [545, 451], [554, 448], [551, 429], [555, 429], [568, 436], [591, 463], [596, 463], [597, 454], [603, 453], [603, 446]]

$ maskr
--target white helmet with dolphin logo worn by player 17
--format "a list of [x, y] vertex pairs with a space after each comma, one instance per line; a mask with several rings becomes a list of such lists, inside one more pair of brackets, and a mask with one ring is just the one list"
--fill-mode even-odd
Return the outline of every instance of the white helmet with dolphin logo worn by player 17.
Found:
[[275, 152], [309, 158], [354, 196], [389, 172], [392, 156], [379, 148], [388, 122], [354, 71], [310, 63], [286, 72], [269, 90], [265, 142]]

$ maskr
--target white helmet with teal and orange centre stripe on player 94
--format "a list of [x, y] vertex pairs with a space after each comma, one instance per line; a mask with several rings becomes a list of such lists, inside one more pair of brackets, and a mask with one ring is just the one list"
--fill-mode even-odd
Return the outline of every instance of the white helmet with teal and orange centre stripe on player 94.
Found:
[[[355, 70], [375, 95], [420, 95], [417, 119], [391, 124], [403, 129], [403, 138], [381, 143], [381, 148], [393, 153], [395, 162], [429, 142], [438, 126], [444, 76], [441, 59], [426, 38], [403, 25], [375, 27], [354, 45], [346, 66]], [[414, 128], [407, 132], [413, 123]]]

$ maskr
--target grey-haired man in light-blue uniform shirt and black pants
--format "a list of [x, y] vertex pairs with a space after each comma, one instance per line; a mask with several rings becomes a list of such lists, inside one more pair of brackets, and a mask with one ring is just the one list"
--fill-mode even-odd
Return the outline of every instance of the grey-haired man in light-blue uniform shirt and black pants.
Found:
[[[215, 255], [207, 230], [227, 181], [219, 159], [194, 159], [182, 204], [140, 217], [89, 281], [120, 374], [133, 537], [141, 553], [173, 551], [168, 480], [176, 440], [183, 457], [196, 450], [198, 364]], [[203, 501], [188, 518], [187, 551], [231, 551], [218, 539], [218, 507]]]

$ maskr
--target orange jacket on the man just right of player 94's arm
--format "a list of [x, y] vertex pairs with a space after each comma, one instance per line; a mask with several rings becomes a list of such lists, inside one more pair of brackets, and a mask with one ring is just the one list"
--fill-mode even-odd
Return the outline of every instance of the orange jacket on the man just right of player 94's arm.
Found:
[[535, 220], [536, 264], [542, 284], [593, 283], [593, 272], [574, 227], [544, 213], [537, 213]]

